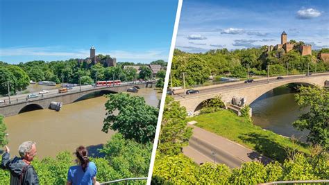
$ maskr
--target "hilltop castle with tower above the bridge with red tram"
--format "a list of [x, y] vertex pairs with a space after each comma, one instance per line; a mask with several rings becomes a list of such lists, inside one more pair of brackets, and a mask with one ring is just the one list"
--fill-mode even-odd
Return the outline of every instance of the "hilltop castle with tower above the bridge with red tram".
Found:
[[104, 67], [115, 67], [117, 65], [117, 59], [111, 58], [110, 55], [106, 55], [105, 58], [100, 58], [96, 55], [96, 49], [94, 46], [90, 48], [90, 58], [78, 59], [79, 63], [86, 62], [87, 64], [101, 63]]

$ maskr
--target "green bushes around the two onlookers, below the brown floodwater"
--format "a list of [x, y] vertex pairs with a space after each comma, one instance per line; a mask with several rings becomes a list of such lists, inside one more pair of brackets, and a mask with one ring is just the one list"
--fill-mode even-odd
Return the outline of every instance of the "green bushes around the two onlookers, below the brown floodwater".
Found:
[[[147, 177], [151, 146], [152, 143], [137, 143], [124, 139], [121, 134], [115, 134], [101, 150], [105, 157], [90, 157], [90, 161], [97, 167], [96, 179], [99, 182], [108, 182], [128, 177]], [[66, 184], [67, 170], [69, 166], [76, 165], [74, 160], [71, 152], [59, 152], [56, 158], [34, 159], [32, 165], [40, 184]], [[9, 184], [9, 180], [10, 173], [0, 170], [1, 184]]]

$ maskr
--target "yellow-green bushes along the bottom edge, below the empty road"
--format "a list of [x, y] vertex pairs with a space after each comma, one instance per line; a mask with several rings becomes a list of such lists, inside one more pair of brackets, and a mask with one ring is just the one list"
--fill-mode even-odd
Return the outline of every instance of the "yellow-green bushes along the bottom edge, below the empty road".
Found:
[[152, 184], [258, 184], [280, 180], [328, 179], [328, 154], [313, 157], [298, 153], [283, 164], [264, 166], [248, 162], [230, 170], [223, 164], [205, 163], [197, 166], [184, 155], [160, 156], [155, 160]]

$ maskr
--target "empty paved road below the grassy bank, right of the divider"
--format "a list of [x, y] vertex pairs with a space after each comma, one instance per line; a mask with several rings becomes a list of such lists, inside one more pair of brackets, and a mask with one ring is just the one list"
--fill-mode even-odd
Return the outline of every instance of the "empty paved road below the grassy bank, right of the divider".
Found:
[[248, 161], [260, 161], [263, 164], [268, 164], [271, 161], [268, 157], [222, 136], [194, 125], [190, 126], [193, 127], [193, 135], [189, 139], [189, 146], [183, 148], [183, 153], [193, 159], [196, 164], [208, 161], [237, 168]]

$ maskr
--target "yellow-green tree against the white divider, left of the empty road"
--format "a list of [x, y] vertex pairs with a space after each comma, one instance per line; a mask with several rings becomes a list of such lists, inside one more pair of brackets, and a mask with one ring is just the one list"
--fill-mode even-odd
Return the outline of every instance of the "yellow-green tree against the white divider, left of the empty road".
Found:
[[187, 127], [186, 116], [185, 107], [180, 107], [174, 98], [167, 96], [158, 143], [158, 150], [162, 154], [177, 155], [183, 146], [187, 146], [192, 127]]

